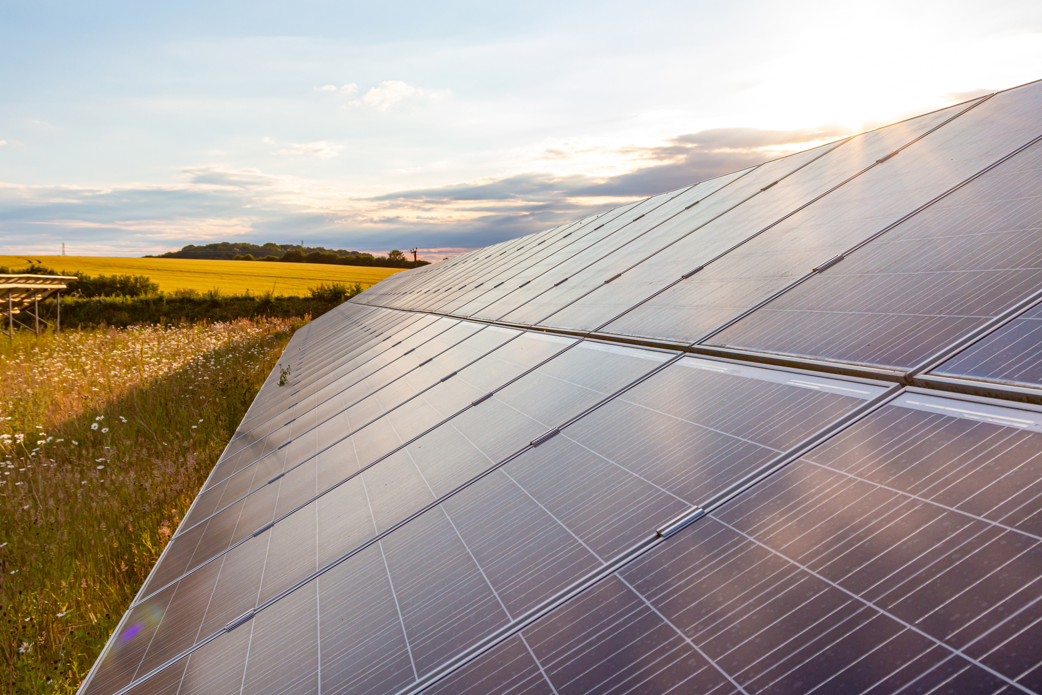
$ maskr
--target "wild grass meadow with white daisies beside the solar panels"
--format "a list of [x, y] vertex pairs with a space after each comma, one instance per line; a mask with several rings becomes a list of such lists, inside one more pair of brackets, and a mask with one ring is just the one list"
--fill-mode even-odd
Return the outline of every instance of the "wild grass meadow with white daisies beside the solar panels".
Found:
[[0, 693], [72, 693], [300, 319], [0, 337]]

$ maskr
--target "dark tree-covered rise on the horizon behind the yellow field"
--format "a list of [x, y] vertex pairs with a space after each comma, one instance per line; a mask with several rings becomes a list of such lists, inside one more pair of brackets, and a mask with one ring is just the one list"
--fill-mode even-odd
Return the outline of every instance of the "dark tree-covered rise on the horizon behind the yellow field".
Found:
[[417, 268], [429, 265], [428, 260], [413, 262], [402, 251], [395, 249], [386, 256], [372, 253], [327, 249], [324, 246], [300, 244], [247, 244], [219, 242], [196, 246], [189, 244], [180, 251], [168, 251], [146, 258], [198, 258], [208, 260], [264, 260], [280, 263], [318, 263], [334, 266], [369, 266], [376, 268]]

